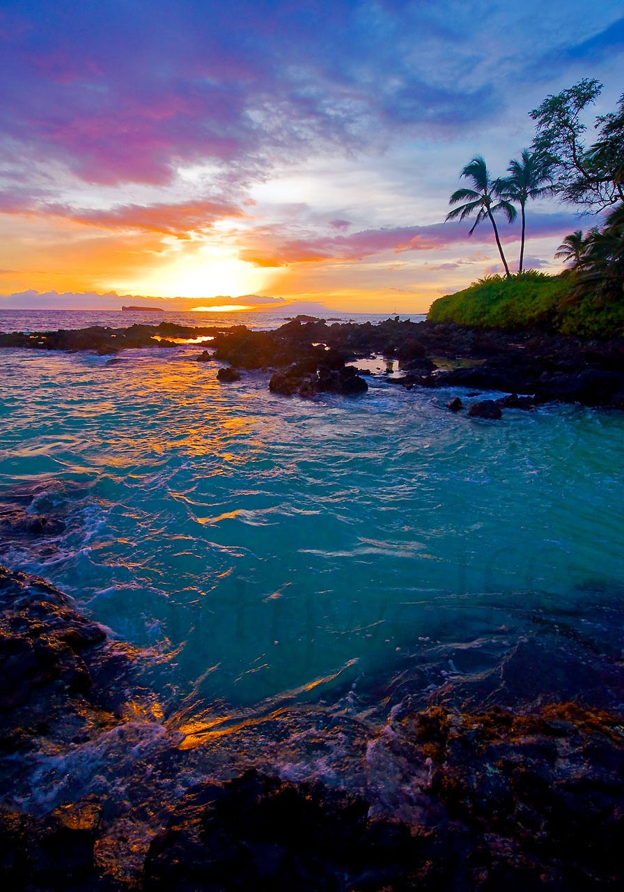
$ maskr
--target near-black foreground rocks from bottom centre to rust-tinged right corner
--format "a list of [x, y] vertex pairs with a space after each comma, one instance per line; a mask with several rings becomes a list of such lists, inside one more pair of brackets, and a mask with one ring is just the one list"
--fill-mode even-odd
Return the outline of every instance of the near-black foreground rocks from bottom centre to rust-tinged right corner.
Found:
[[571, 703], [531, 714], [432, 706], [385, 742], [421, 772], [422, 822], [255, 770], [189, 791], [153, 839], [144, 889], [616, 889], [624, 881], [620, 718]]

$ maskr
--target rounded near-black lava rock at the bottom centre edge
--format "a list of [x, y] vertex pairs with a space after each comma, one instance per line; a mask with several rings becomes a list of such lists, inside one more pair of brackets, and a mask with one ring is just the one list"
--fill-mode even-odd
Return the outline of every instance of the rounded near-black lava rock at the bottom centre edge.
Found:
[[194, 789], [153, 839], [145, 892], [415, 889], [418, 841], [404, 824], [369, 821], [369, 805], [320, 783], [245, 772]]

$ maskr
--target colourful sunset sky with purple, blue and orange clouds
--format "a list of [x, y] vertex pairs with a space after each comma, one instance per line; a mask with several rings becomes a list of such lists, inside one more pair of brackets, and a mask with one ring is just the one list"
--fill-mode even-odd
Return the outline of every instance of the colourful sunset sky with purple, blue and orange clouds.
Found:
[[[464, 165], [580, 78], [591, 136], [623, 52], [620, 0], [1, 0], [0, 309], [426, 312], [502, 271], [444, 222]], [[525, 268], [593, 223], [533, 202]]]

